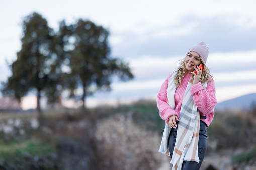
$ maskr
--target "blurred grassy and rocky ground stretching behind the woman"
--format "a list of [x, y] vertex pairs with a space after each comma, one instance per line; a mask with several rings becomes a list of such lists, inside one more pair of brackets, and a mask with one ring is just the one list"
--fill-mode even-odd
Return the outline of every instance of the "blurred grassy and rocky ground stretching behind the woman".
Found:
[[[256, 167], [256, 107], [216, 112], [202, 165]], [[0, 169], [161, 169], [164, 121], [155, 101], [88, 109], [0, 114]], [[164, 157], [163, 157], [164, 156]]]

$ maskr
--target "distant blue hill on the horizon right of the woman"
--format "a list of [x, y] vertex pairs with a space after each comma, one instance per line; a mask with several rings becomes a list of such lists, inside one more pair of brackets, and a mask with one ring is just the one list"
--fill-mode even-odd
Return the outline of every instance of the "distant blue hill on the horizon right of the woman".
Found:
[[253, 102], [256, 103], [256, 93], [247, 94], [241, 97], [217, 103], [214, 110], [247, 110], [251, 108]]

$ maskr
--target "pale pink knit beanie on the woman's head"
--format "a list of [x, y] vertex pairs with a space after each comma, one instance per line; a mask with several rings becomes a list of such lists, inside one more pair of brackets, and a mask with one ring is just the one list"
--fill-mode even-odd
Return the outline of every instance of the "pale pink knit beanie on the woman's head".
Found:
[[207, 46], [207, 44], [205, 44], [205, 42], [202, 41], [201, 43], [198, 43], [197, 45], [192, 46], [188, 50], [188, 53], [191, 51], [197, 52], [201, 56], [201, 58], [204, 60], [204, 63], [206, 63], [206, 60], [209, 54], [209, 47]]

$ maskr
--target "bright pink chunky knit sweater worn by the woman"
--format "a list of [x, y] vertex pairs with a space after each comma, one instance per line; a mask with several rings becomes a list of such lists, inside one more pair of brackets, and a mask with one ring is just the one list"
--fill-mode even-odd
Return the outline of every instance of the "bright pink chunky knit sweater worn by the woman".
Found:
[[[167, 89], [168, 89], [168, 82], [170, 77], [173, 75], [170, 74], [168, 78], [164, 81], [162, 84], [162, 87], [157, 95], [157, 107], [160, 112], [160, 117], [165, 120], [165, 122], [168, 124], [168, 119], [172, 115], [177, 115], [178, 118], [180, 116], [181, 106], [182, 106], [182, 100], [183, 96], [187, 87], [187, 84], [189, 82], [191, 74], [186, 74], [183, 79], [180, 86], [177, 87], [174, 95], [175, 100], [175, 110], [173, 110], [169, 104], [167, 103]], [[212, 122], [213, 116], [214, 116], [214, 110], [217, 103], [217, 99], [215, 97], [215, 84], [214, 81], [211, 81], [211, 77], [207, 83], [206, 90], [204, 90], [201, 82], [192, 85], [190, 87], [190, 92], [193, 95], [193, 100], [201, 112], [201, 116], [206, 116], [206, 119], [202, 119], [207, 126], [210, 125]]]

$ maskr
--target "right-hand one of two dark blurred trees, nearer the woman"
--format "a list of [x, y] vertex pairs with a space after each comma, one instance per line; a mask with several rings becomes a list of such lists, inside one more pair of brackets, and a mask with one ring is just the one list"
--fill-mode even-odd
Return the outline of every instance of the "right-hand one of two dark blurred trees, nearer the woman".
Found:
[[[79, 19], [70, 26], [63, 24], [60, 31], [68, 32], [59, 35], [66, 36], [62, 37], [66, 40], [62, 48], [70, 54], [66, 55], [70, 71], [65, 75], [63, 87], [70, 90], [70, 97], [80, 97], [83, 109], [88, 95], [96, 90], [110, 90], [113, 76], [123, 81], [133, 78], [127, 63], [110, 57], [109, 32], [102, 26]], [[82, 95], [75, 93], [77, 89], [82, 90]]]

